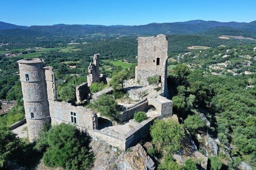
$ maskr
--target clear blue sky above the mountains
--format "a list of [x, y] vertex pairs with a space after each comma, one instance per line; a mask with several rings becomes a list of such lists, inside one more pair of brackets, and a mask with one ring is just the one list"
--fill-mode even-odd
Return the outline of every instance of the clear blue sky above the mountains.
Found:
[[0, 21], [16, 25], [256, 20], [256, 0], [0, 0]]

